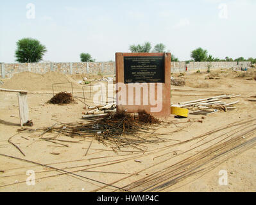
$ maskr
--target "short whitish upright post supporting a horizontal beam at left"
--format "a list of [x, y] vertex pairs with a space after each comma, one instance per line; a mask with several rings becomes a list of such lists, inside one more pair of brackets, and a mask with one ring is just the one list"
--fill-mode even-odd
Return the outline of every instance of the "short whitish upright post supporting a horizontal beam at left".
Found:
[[28, 94], [26, 93], [19, 93], [18, 94], [18, 101], [19, 101], [19, 117], [21, 126], [24, 123], [28, 122]]

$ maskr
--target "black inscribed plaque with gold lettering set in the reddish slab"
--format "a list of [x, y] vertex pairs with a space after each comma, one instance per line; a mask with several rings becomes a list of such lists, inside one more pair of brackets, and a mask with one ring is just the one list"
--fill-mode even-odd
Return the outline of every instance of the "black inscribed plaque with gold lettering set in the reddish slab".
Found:
[[124, 57], [124, 83], [164, 83], [164, 57]]

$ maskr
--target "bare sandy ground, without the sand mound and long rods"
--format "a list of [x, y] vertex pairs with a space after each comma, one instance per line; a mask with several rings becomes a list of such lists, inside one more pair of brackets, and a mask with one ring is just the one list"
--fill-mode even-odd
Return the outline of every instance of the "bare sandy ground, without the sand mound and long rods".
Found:
[[[209, 74], [202, 72], [201, 74], [194, 72], [185, 74], [184, 78], [187, 79], [187, 85], [189, 86], [172, 86], [171, 102], [173, 104], [221, 94], [241, 94], [241, 97], [235, 99], [235, 101], [240, 101], [236, 105], [237, 109], [226, 113], [219, 112], [209, 115], [205, 117], [203, 123], [196, 122], [196, 119], [201, 119], [201, 115], [190, 115], [189, 119], [192, 120], [192, 123], [186, 123], [188, 119], [175, 119], [173, 115], [169, 118], [161, 119], [165, 122], [173, 120], [184, 122], [181, 125], [183, 129], [177, 131], [179, 127], [171, 124], [166, 127], [160, 126], [158, 131], [160, 133], [169, 133], [169, 136], [165, 136], [169, 141], [147, 144], [148, 151], [145, 153], [135, 149], [126, 149], [123, 152], [115, 153], [110, 147], [105, 147], [94, 140], [87, 156], [84, 156], [90, 145], [90, 139], [70, 139], [67, 136], [59, 136], [61, 140], [73, 140], [76, 142], [62, 142], [69, 146], [65, 147], [60, 144], [42, 141], [38, 136], [33, 136], [33, 133], [17, 134], [17, 129], [20, 128], [17, 94], [0, 92], [0, 153], [47, 164], [79, 175], [74, 176], [52, 170], [51, 168], [33, 165], [26, 161], [0, 156], [0, 192], [92, 192], [98, 190], [98, 188], [101, 188], [99, 192], [113, 192], [117, 191], [117, 188], [112, 186], [104, 188], [104, 184], [90, 179], [107, 184], [120, 180], [114, 186], [123, 187], [163, 170], [198, 151], [195, 150], [194, 152], [182, 154], [189, 149], [191, 144], [176, 145], [170, 149], [162, 150], [162, 147], [174, 143], [171, 140], [188, 140], [232, 122], [255, 117], [256, 102], [249, 102], [247, 100], [252, 95], [256, 95], [256, 81], [248, 79], [252, 78], [253, 74], [250, 71], [241, 76], [239, 72], [219, 70], [217, 73], [211, 74], [217, 79], [208, 79]], [[177, 76], [178, 74], [175, 75]], [[239, 75], [240, 77], [237, 77]], [[69, 76], [69, 78], [71, 77]], [[73, 76], [74, 81], [77, 81], [77, 77]], [[8, 83], [8, 80], [3, 81]], [[15, 88], [22, 89], [19, 83], [17, 83]], [[67, 90], [69, 88], [60, 88], [60, 90], [62, 89]], [[81, 113], [83, 112], [84, 104], [78, 99], [76, 99], [75, 103], [68, 105], [47, 104], [46, 102], [53, 96], [51, 86], [48, 85], [47, 89], [36, 90], [31, 85], [31, 90], [27, 90], [30, 91], [28, 103], [30, 106], [30, 118], [34, 123], [33, 129], [53, 126], [56, 123], [55, 120], [59, 122], [82, 121]], [[89, 92], [89, 88], [87, 88], [86, 92]], [[77, 97], [83, 96], [81, 86], [76, 85], [74, 87], [74, 95]], [[89, 97], [89, 94], [87, 93], [86, 96]], [[233, 102], [234, 99], [226, 99], [225, 101]], [[244, 124], [245, 126], [246, 124]], [[46, 136], [52, 135], [54, 134], [46, 134]], [[8, 143], [8, 139], [11, 136], [13, 136], [12, 142], [18, 145], [26, 156], [22, 156], [21, 152]], [[255, 149], [256, 147], [253, 147], [241, 154], [234, 154], [232, 158], [224, 163], [216, 163], [210, 172], [195, 174], [164, 191], [255, 192]], [[58, 155], [54, 153], [58, 153]], [[139, 160], [141, 163], [135, 160]], [[164, 163], [160, 163], [161, 161], [164, 161]], [[26, 172], [28, 170], [35, 172], [35, 186], [28, 186], [26, 184], [26, 179], [28, 178]], [[227, 186], [220, 186], [218, 184], [219, 170], [226, 170], [228, 172]]]

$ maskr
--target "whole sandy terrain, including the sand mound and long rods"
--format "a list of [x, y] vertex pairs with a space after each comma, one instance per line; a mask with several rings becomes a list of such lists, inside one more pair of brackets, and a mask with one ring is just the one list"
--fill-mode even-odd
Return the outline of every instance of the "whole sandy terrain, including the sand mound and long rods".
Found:
[[[0, 88], [28, 90], [33, 127], [21, 130], [17, 94], [0, 92], [0, 192], [255, 192], [256, 102], [249, 99], [256, 99], [256, 69], [172, 76], [186, 80], [185, 86], [171, 86], [172, 104], [223, 94], [240, 95], [223, 99], [239, 103], [234, 105], [235, 110], [207, 116], [162, 118], [161, 124], [148, 126], [160, 142], [145, 143], [141, 149], [127, 146], [115, 152], [96, 138], [71, 138], [40, 130], [62, 123], [85, 123], [87, 120], [81, 119], [85, 104], [78, 81], [102, 76], [25, 72], [1, 79]], [[67, 82], [73, 83], [74, 103], [47, 103], [53, 97], [52, 83]], [[71, 87], [57, 86], [55, 92], [60, 91], [71, 92]], [[89, 91], [87, 86], [86, 103], [92, 106]], [[42, 136], [55, 140], [43, 140]], [[224, 185], [219, 184], [221, 170], [227, 173]], [[35, 174], [34, 186], [26, 183], [30, 177], [26, 174], [31, 171]]]

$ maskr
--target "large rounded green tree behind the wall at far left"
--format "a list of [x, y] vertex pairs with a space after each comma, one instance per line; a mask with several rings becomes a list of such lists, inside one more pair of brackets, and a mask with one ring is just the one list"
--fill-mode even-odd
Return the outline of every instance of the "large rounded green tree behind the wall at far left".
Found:
[[15, 58], [19, 63], [37, 63], [43, 60], [46, 52], [46, 46], [37, 39], [22, 38], [17, 42]]

